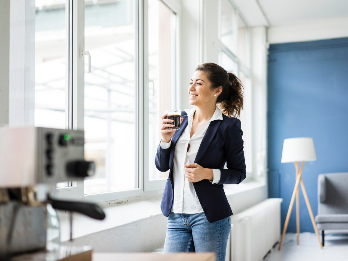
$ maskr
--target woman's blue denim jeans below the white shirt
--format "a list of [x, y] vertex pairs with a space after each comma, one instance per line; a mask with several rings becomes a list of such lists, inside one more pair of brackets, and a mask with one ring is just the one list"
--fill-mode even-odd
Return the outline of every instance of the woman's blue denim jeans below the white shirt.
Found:
[[224, 261], [231, 218], [209, 223], [204, 212], [168, 216], [164, 253], [214, 252], [216, 261]]

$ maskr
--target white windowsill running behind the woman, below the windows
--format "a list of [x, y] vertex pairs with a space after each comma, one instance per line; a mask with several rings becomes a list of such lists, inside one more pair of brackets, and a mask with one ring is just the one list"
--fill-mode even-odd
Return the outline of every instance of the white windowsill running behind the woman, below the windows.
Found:
[[[248, 193], [258, 188], [264, 187], [264, 182], [247, 181], [240, 184], [226, 184], [224, 190], [228, 200], [238, 196], [240, 193]], [[244, 195], [244, 194], [243, 194]], [[262, 199], [263, 200], [263, 199]], [[261, 201], [262, 201], [261, 200]], [[232, 201], [235, 201], [232, 199]], [[116, 228], [129, 224], [132, 222], [147, 219], [153, 216], [162, 215], [160, 210], [161, 198], [154, 197], [147, 200], [137, 201], [128, 204], [122, 204], [118, 206], [105, 207], [104, 212], [106, 217], [104, 220], [91, 219], [82, 214], [73, 214], [73, 238], [81, 238], [90, 234], [105, 231], [108, 229]], [[253, 204], [253, 203], [252, 203]], [[244, 204], [249, 207], [250, 204]], [[232, 207], [233, 208], [233, 207]], [[238, 208], [238, 207], [237, 207]], [[238, 213], [234, 210], [234, 213]], [[66, 242], [70, 238], [70, 219], [69, 212], [59, 211], [59, 217], [61, 222], [61, 241]]]

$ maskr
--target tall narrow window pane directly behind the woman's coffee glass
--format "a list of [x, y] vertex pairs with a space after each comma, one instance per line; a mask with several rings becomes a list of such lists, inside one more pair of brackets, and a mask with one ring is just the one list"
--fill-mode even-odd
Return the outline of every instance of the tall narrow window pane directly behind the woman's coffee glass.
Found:
[[175, 108], [175, 14], [160, 0], [149, 0], [149, 180], [163, 179], [154, 164], [161, 140], [160, 118]]

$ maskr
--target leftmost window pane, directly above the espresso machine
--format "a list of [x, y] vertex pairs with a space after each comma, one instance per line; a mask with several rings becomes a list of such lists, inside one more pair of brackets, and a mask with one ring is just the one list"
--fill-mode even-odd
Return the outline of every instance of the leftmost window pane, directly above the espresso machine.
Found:
[[36, 0], [35, 126], [65, 128], [65, 0]]

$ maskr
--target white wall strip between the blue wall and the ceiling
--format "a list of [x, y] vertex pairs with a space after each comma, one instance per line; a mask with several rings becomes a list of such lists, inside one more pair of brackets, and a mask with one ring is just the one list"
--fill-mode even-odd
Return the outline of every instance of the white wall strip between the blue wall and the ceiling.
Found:
[[320, 19], [286, 26], [272, 26], [267, 30], [269, 44], [344, 37], [348, 37], [348, 17]]

